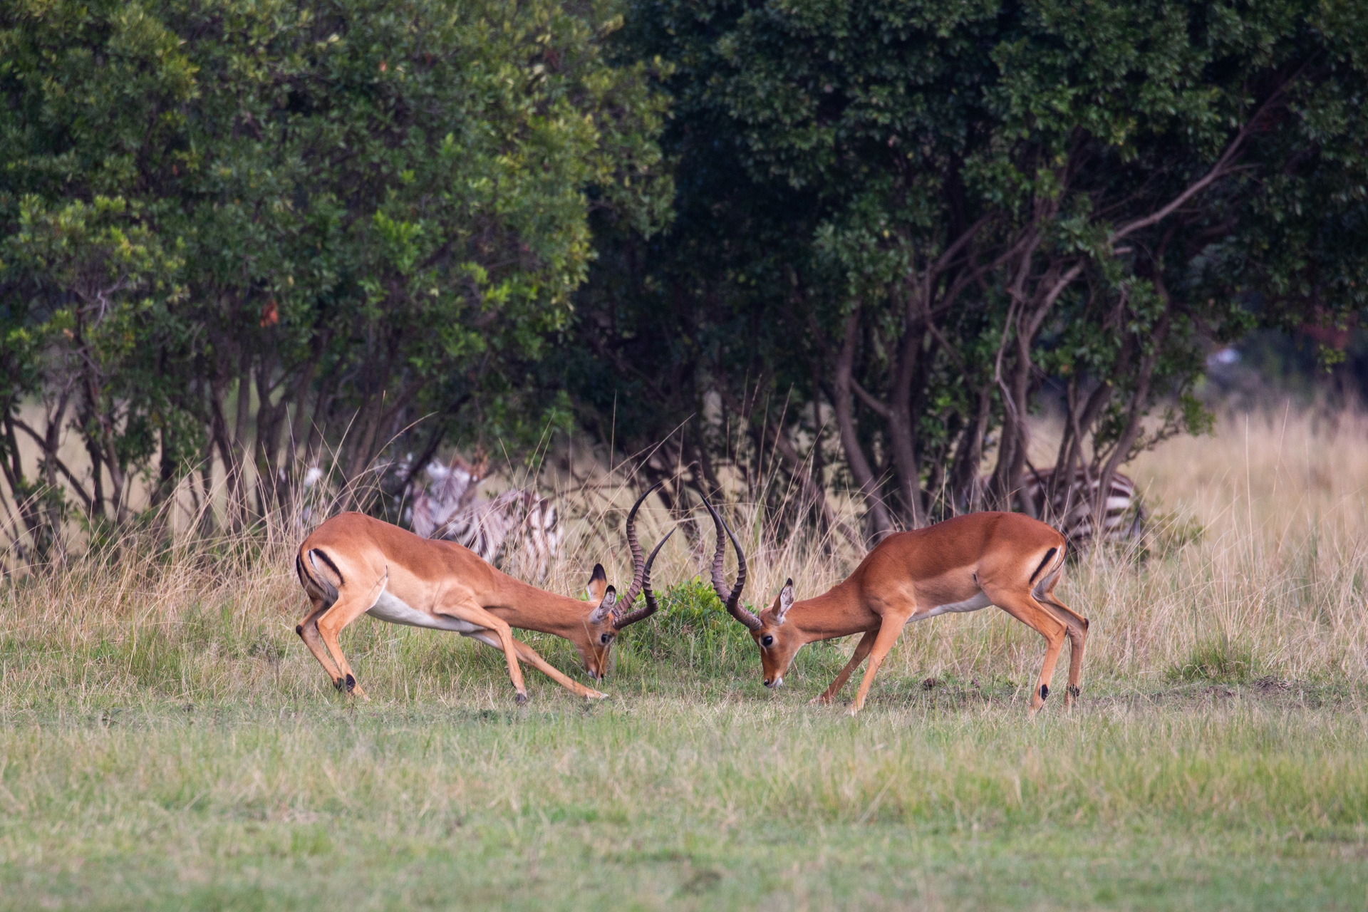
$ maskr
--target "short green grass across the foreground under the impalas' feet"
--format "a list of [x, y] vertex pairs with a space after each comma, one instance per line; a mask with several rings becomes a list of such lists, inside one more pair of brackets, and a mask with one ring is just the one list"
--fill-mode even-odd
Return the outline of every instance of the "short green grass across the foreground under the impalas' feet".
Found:
[[1030, 722], [1022, 682], [895, 670], [851, 718], [806, 703], [850, 641], [770, 693], [676, 595], [595, 706], [369, 619], [368, 703], [269, 615], [11, 636], [0, 908], [1364, 907], [1350, 681], [1111, 680]]

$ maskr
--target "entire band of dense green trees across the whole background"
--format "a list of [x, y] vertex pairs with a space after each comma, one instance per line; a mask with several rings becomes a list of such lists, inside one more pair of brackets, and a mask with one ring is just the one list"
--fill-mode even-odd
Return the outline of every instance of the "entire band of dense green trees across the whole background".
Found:
[[1294, 0], [11, 4], [5, 521], [550, 427], [877, 537], [1007, 505], [1047, 381], [1105, 485], [1213, 346], [1365, 305], [1365, 55]]

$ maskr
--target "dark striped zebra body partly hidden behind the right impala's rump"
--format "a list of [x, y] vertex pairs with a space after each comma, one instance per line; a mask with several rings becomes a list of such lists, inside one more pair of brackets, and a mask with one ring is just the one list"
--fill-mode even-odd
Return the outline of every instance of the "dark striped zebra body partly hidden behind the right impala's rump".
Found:
[[[1023, 511], [1049, 522], [1068, 539], [1074, 547], [1086, 551], [1094, 537], [1093, 510], [1099, 498], [1097, 479], [1082, 469], [1074, 469], [1068, 485], [1062, 487], [1052, 503], [1045, 503], [1055, 469], [1027, 469], [1022, 474], [1018, 489]], [[1103, 505], [1101, 529], [1104, 541], [1124, 541], [1138, 539], [1145, 531], [1145, 505], [1141, 503], [1135, 483], [1120, 472], [1112, 473]]]

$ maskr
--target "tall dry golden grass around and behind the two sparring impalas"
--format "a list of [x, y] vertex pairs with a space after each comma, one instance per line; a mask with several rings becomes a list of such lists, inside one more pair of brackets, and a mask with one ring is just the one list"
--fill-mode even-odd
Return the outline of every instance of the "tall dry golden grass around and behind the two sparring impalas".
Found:
[[[1037, 446], [1048, 446], [1048, 428], [1038, 436]], [[1059, 588], [1093, 625], [1085, 681], [1144, 688], [1264, 675], [1368, 680], [1368, 417], [1342, 414], [1331, 423], [1290, 407], [1230, 417], [1213, 436], [1171, 440], [1142, 455], [1131, 473], [1152, 517], [1145, 554], [1099, 548], [1073, 565]], [[572, 521], [568, 555], [547, 588], [580, 592], [598, 561], [610, 567], [610, 578], [628, 578], [629, 555], [618, 529], [629, 492], [596, 503]], [[731, 514], [747, 547], [752, 603], [767, 604], [789, 576], [800, 598], [821, 592], [860, 556], [839, 539], [828, 543], [844, 547], [834, 555], [810, 536], [778, 540], [766, 517], [744, 503], [731, 505]], [[706, 517], [674, 518], [647, 509], [643, 540], [653, 541], [674, 520], [705, 520], [703, 533], [694, 536], [692, 548], [685, 535], [666, 546], [655, 567], [658, 589], [696, 578], [709, 556], [699, 550], [711, 543]], [[59, 674], [59, 666], [86, 665], [96, 654], [104, 658], [81, 671], [88, 682], [107, 673], [112, 685], [124, 660], [152, 663], [145, 674], [171, 674], [170, 665], [157, 665], [163, 651], [176, 655], [172, 665], [187, 688], [208, 686], [222, 699], [261, 686], [263, 663], [272, 682], [283, 686], [280, 675], [302, 675], [297, 684], [306, 686], [317, 670], [301, 667], [302, 649], [291, 632], [304, 607], [291, 570], [301, 535], [295, 525], [275, 528], [263, 540], [182, 540], [156, 550], [126, 543], [103, 559], [11, 581], [0, 589], [0, 636], [12, 647], [41, 644], [52, 660], [22, 663], [26, 671], [11, 666], [0, 706], [70, 680], [63, 675], [77, 669]], [[347, 636], [358, 640], [353, 648], [387, 643], [428, 655], [465, 684], [461, 660], [438, 659], [451, 648], [442, 637], [369, 621]], [[1033, 632], [985, 610], [908, 626], [881, 677], [1025, 682], [1040, 656]], [[754, 666], [758, 671], [758, 660]], [[55, 674], [59, 678], [48, 680]], [[417, 677], [405, 685], [410, 692], [427, 686], [423, 674]], [[502, 701], [502, 682], [490, 686], [490, 697]]]

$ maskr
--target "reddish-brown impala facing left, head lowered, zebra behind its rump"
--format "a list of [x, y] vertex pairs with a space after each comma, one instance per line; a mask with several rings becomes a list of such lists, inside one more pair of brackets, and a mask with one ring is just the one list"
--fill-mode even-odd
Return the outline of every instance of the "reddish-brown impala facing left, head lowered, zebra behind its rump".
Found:
[[[1045, 665], [1031, 692], [1031, 715], [1045, 704], [1055, 663], [1068, 637], [1068, 688], [1064, 704], [1078, 696], [1088, 618], [1057, 598], [1055, 585], [1064, 567], [1064, 536], [1019, 513], [970, 513], [937, 525], [891, 535], [870, 551], [855, 572], [815, 599], [793, 600], [788, 580], [759, 617], [740, 604], [746, 587], [746, 555], [713, 505], [703, 500], [717, 525], [713, 588], [726, 611], [746, 625], [761, 649], [763, 682], [776, 688], [803, 645], [859, 633], [855, 655], [813, 703], [830, 703], [860, 662], [869, 659], [851, 712], [859, 712], [874, 674], [908, 621], [949, 611], [977, 611], [996, 604], [1045, 637]], [[722, 558], [726, 543], [736, 548], [736, 585], [726, 591]]]

